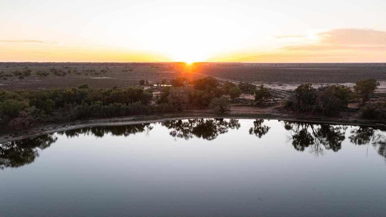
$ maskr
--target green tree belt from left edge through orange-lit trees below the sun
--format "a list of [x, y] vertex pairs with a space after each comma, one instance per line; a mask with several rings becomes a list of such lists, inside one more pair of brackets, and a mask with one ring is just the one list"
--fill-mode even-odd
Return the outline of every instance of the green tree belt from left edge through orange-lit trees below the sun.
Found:
[[152, 92], [138, 87], [91, 88], [83, 84], [78, 88], [0, 91], [0, 122], [25, 129], [47, 121], [178, 112], [189, 107], [210, 106], [225, 113], [229, 100], [223, 94], [214, 78], [194, 80], [191, 86], [166, 86], [156, 102]]

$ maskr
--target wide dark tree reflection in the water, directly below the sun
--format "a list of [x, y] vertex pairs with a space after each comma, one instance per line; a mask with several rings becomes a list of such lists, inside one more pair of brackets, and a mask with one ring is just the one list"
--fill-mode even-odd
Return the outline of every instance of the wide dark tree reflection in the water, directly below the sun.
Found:
[[215, 139], [218, 135], [226, 133], [229, 129], [239, 129], [240, 123], [237, 119], [188, 119], [169, 120], [161, 125], [172, 129], [169, 134], [175, 138], [190, 139], [193, 136], [207, 140]]

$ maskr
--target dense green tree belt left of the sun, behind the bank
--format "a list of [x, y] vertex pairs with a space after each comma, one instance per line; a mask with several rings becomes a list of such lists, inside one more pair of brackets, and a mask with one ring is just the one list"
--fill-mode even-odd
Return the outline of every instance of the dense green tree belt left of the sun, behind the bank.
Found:
[[15, 129], [48, 120], [78, 120], [156, 112], [152, 93], [141, 88], [79, 88], [0, 91], [0, 121]]

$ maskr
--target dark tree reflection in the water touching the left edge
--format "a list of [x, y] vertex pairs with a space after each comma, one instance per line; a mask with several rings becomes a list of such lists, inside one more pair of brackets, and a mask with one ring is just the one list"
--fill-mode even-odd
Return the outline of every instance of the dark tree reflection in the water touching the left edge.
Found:
[[34, 162], [39, 149], [45, 149], [58, 138], [54, 134], [0, 144], [0, 168], [19, 167]]

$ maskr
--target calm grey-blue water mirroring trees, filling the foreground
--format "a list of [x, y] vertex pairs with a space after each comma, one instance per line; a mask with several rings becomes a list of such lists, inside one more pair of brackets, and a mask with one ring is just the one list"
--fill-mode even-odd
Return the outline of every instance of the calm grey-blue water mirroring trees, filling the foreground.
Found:
[[194, 119], [0, 146], [0, 216], [384, 216], [386, 131]]

